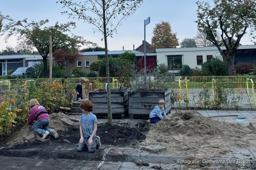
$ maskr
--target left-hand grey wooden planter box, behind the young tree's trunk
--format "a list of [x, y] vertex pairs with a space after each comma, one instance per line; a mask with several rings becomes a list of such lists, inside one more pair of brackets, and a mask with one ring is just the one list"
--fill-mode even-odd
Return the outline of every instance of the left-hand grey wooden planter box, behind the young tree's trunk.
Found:
[[[113, 118], [129, 116], [128, 89], [111, 89], [111, 108]], [[106, 91], [94, 90], [89, 92], [89, 99], [94, 104], [93, 114], [97, 117], [108, 118], [108, 101]]]

